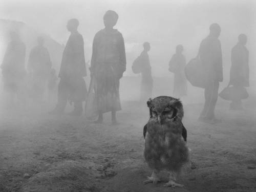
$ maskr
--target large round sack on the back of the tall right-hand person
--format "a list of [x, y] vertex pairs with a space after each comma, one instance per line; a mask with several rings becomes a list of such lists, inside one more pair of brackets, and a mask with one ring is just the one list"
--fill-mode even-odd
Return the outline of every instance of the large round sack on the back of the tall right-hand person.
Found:
[[191, 59], [185, 66], [185, 75], [192, 86], [205, 88], [208, 82], [208, 75], [201, 60], [197, 57]]

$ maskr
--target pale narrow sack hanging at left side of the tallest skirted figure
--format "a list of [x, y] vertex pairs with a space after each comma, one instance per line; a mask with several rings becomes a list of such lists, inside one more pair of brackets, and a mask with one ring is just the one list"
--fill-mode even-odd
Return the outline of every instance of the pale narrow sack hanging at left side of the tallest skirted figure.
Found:
[[86, 99], [86, 107], [85, 107], [85, 114], [87, 119], [96, 119], [97, 118], [97, 103], [95, 100], [95, 92], [94, 92], [94, 83], [95, 78], [91, 78], [89, 93]]

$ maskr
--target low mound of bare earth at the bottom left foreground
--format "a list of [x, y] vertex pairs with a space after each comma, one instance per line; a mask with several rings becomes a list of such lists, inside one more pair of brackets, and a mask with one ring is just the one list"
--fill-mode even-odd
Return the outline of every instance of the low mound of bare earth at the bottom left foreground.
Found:
[[97, 182], [94, 179], [91, 169], [78, 161], [67, 160], [53, 163], [45, 172], [35, 174], [20, 191], [103, 191], [96, 187]]

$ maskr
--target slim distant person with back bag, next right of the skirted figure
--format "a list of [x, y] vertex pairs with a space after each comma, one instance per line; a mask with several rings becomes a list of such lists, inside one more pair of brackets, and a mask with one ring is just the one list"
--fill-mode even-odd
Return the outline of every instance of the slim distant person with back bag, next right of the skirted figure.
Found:
[[151, 74], [150, 57], [147, 52], [150, 51], [150, 43], [144, 42], [144, 50], [140, 54], [140, 68], [141, 68], [141, 88], [140, 88], [140, 101], [145, 103], [148, 98], [152, 97], [153, 91], [153, 78]]

